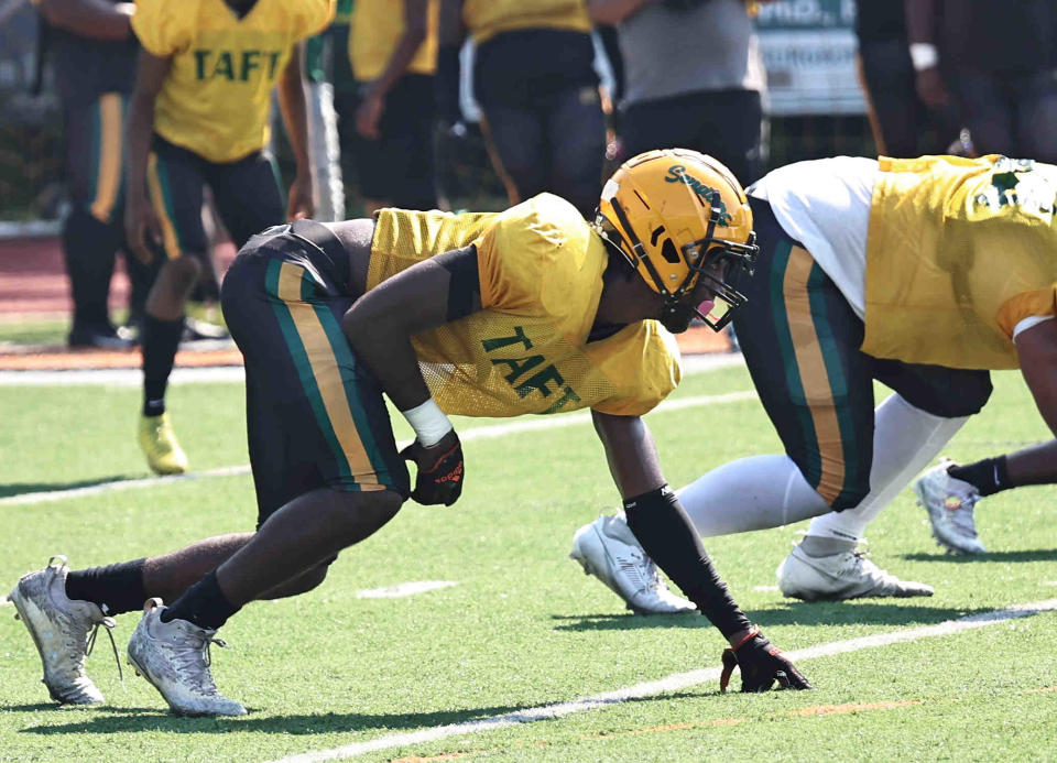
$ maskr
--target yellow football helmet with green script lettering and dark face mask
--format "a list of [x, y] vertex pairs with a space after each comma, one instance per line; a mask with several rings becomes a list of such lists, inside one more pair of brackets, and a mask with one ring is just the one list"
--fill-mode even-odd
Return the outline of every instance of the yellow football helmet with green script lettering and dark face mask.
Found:
[[[595, 229], [673, 315], [689, 309], [719, 330], [745, 303], [738, 282], [752, 275], [760, 251], [752, 211], [741, 184], [711, 156], [666, 149], [628, 160], [602, 188]], [[704, 313], [686, 304], [701, 279], [716, 294]]]

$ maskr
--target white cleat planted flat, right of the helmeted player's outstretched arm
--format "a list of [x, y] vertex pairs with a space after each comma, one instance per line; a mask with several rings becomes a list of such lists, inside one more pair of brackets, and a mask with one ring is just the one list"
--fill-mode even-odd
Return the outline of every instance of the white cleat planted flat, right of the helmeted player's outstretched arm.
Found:
[[778, 565], [777, 577], [783, 596], [804, 601], [933, 595], [931, 586], [900, 580], [859, 551], [808, 556], [796, 546]]

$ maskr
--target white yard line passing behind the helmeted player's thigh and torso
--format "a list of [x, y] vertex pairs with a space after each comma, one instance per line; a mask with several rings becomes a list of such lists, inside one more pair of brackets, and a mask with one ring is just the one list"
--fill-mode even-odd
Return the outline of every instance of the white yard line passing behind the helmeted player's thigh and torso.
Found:
[[[756, 393], [752, 391], [728, 392], [721, 395], [702, 395], [698, 397], [685, 397], [683, 400], [669, 400], [661, 403], [654, 412], [664, 413], [665, 411], [682, 411], [701, 405], [723, 405], [726, 403], [737, 403], [742, 400], [753, 400]], [[520, 432], [537, 432], [540, 429], [556, 429], [565, 426], [575, 426], [587, 424], [591, 421], [590, 412], [569, 413], [562, 416], [544, 416], [536, 419], [519, 421], [511, 424], [498, 424], [493, 426], [480, 426], [473, 429], [467, 429], [459, 435], [464, 443], [471, 443], [478, 439], [492, 439], [495, 437], [506, 437], [508, 435]], [[70, 488], [68, 490], [43, 490], [35, 493], [21, 493], [19, 495], [8, 495], [0, 498], [0, 506], [23, 506], [34, 503], [46, 503], [48, 501], [65, 501], [70, 498], [81, 498], [84, 495], [98, 495], [100, 493], [117, 492], [119, 490], [134, 490], [139, 488], [153, 488], [168, 482], [187, 482], [192, 480], [208, 479], [213, 477], [237, 477], [250, 473], [249, 466], [221, 467], [219, 469], [209, 469], [207, 471], [193, 471], [188, 475], [173, 475], [170, 477], [148, 477], [138, 480], [113, 480], [111, 482], [100, 482], [85, 488]]]

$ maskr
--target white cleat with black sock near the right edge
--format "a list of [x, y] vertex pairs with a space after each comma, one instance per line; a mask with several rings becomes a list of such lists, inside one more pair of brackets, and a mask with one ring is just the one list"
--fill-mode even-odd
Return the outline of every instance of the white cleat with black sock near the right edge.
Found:
[[917, 503], [928, 512], [933, 537], [944, 548], [955, 554], [985, 554], [988, 549], [977, 537], [973, 519], [980, 491], [971, 482], [947, 473], [952, 466], [957, 465], [949, 458], [941, 458], [918, 478], [914, 483]]

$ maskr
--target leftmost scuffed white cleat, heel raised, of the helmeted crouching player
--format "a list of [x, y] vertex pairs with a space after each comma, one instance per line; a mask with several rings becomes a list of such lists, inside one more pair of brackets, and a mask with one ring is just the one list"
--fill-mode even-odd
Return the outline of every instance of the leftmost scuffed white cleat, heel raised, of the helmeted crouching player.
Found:
[[91, 653], [99, 626], [109, 633], [115, 622], [91, 601], [66, 596], [68, 574], [66, 557], [53, 556], [43, 569], [24, 575], [8, 599], [33, 636], [52, 699], [65, 705], [91, 705], [103, 699], [85, 673], [85, 658]]

